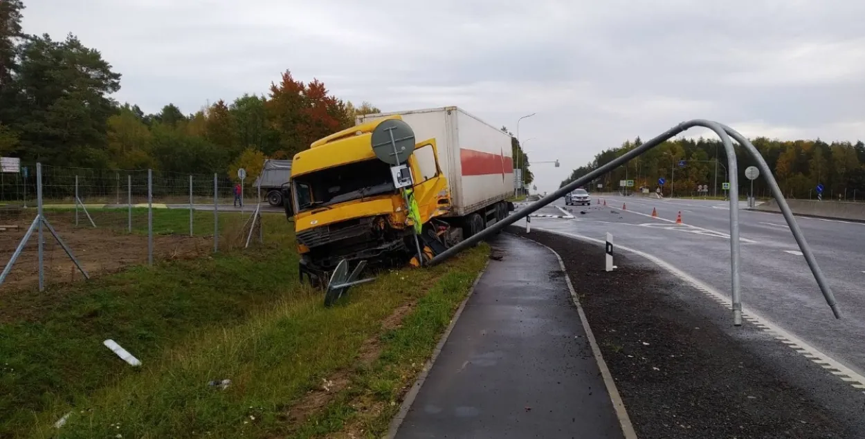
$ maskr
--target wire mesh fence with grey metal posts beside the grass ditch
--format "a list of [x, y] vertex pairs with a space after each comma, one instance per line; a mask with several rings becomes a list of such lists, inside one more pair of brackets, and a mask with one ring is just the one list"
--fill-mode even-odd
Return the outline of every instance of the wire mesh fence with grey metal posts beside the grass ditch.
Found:
[[219, 175], [25, 168], [0, 181], [0, 289], [45, 289], [265, 241], [256, 188], [235, 196]]

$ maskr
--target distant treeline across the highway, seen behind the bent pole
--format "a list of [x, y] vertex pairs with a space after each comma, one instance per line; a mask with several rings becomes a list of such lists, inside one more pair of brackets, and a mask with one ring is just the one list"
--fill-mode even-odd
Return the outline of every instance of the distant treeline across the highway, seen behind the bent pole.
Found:
[[[865, 199], [865, 143], [862, 141], [825, 143], [820, 139], [783, 141], [757, 137], [751, 142], [766, 159], [785, 196], [816, 198], [815, 188], [817, 184], [822, 184], [824, 197], [837, 199], [840, 195], [843, 199], [852, 199], [855, 194], [860, 200]], [[598, 169], [641, 144], [642, 141], [637, 137], [618, 148], [600, 152], [593, 162], [573, 169], [561, 185]], [[727, 154], [720, 140], [702, 137], [664, 142], [587, 186], [597, 190], [597, 185], [603, 184], [604, 188], [618, 190], [619, 181], [630, 179], [634, 181], [635, 189], [646, 187], [655, 190], [658, 179], [663, 178], [666, 180], [663, 192], [667, 195], [671, 188], [676, 195], [696, 194], [697, 187], [702, 185], [708, 185], [709, 194], [714, 194], [715, 158], [718, 160], [717, 194], [722, 194], [721, 183], [728, 181]], [[680, 163], [682, 161], [684, 163]], [[756, 165], [756, 162], [738, 146], [736, 161], [740, 194], [745, 194], [750, 190], [745, 169]], [[768, 188], [760, 178], [754, 181], [754, 192], [759, 196], [769, 195]]]

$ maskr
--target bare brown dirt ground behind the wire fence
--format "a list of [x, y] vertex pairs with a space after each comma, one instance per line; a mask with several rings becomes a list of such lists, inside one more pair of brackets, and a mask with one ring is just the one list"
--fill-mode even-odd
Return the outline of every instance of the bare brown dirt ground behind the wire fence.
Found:
[[[91, 277], [124, 270], [131, 265], [147, 263], [147, 236], [127, 233], [122, 226], [74, 226], [65, 216], [48, 215], [54, 230], [70, 248]], [[3, 225], [17, 228], [0, 232], [0, 263], [4, 266], [12, 257], [33, 218], [3, 218]], [[66, 251], [43, 227], [43, 264], [46, 286], [70, 283], [83, 279]], [[0, 296], [19, 289], [32, 289], [39, 282], [38, 238], [34, 232], [23, 247], [10, 274], [0, 287]], [[213, 250], [213, 240], [204, 237], [156, 235], [153, 238], [154, 260], [199, 258]]]

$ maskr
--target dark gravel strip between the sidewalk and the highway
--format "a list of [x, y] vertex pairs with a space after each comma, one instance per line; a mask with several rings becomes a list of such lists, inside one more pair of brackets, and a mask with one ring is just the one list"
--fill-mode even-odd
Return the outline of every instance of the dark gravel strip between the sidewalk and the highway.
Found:
[[828, 406], [811, 384], [787, 379], [744, 346], [743, 337], [762, 336], [758, 328], [746, 323], [731, 336], [721, 327], [726, 310], [713, 303], [721, 314], [707, 315], [683, 302], [690, 287], [666, 272], [617, 255], [618, 269], [606, 273], [599, 245], [514, 226], [509, 232], [564, 260], [640, 438], [865, 437], [861, 407]]

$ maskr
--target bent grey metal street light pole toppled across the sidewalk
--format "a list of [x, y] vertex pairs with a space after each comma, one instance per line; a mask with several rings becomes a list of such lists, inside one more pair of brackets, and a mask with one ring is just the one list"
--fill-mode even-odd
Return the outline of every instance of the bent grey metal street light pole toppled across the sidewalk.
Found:
[[[837, 309], [837, 304], [835, 301], [835, 296], [832, 295], [831, 290], [829, 288], [828, 283], [826, 283], [825, 277], [823, 277], [823, 272], [820, 270], [820, 267], [817, 265], [816, 259], [813, 258], [813, 253], [811, 249], [808, 247], [808, 244], [805, 242], [804, 237], [798, 225], [796, 225], [796, 220], [793, 219], [792, 214], [790, 213], [790, 207], [787, 206], [786, 200], [783, 197], [783, 194], [780, 193], [780, 189], [777, 189], [778, 183], [774, 180], [772, 173], [768, 170], [768, 166], [766, 165], [766, 161], [763, 160], [762, 156], [759, 155], [759, 151], [753, 147], [753, 144], [747, 141], [746, 138], [742, 137], [738, 132], [733, 129], [727, 127], [726, 125], [718, 124], [717, 122], [712, 122], [705, 119], [694, 119], [689, 122], [682, 122], [681, 124], [677, 124], [670, 130], [664, 131], [661, 135], [654, 137], [638, 146], [637, 148], [626, 152], [622, 156], [618, 156], [613, 159], [611, 162], [606, 163], [604, 166], [601, 166], [599, 169], [594, 169], [592, 172], [583, 175], [575, 181], [570, 182], [569, 184], [555, 190], [552, 194], [547, 195], [541, 200], [535, 201], [530, 204], [528, 207], [522, 208], [518, 213], [514, 213], [509, 215], [504, 220], [497, 221], [497, 223], [492, 226], [484, 229], [483, 231], [472, 235], [468, 239], [465, 239], [462, 242], [459, 242], [457, 245], [454, 245], [450, 249], [443, 251], [441, 254], [432, 258], [429, 265], [439, 264], [447, 258], [452, 257], [457, 254], [459, 251], [463, 251], [472, 245], [477, 245], [478, 242], [482, 241], [495, 234], [496, 232], [502, 231], [505, 227], [510, 226], [518, 220], [522, 220], [523, 218], [529, 216], [531, 213], [535, 213], [541, 207], [545, 207], [548, 204], [552, 203], [554, 200], [561, 198], [564, 194], [567, 194], [575, 188], [579, 188], [580, 186], [585, 185], [589, 181], [593, 181], [598, 178], [600, 175], [605, 175], [612, 171], [613, 169], [618, 168], [619, 166], [625, 164], [626, 162], [631, 161], [636, 156], [640, 156], [644, 152], [655, 148], [657, 145], [663, 143], [664, 141], [669, 140], [672, 137], [675, 137], [679, 133], [684, 130], [688, 130], [689, 128], [695, 126], [702, 126], [713, 130], [718, 137], [721, 137], [721, 142], [724, 144], [724, 149], [727, 151], [727, 162], [728, 162], [728, 171], [729, 171], [729, 180], [730, 180], [730, 192], [729, 192], [729, 202], [730, 202], [730, 277], [731, 277], [731, 296], [732, 296], [732, 305], [733, 305], [733, 323], [735, 326], [740, 326], [742, 321], [742, 304], [741, 304], [741, 291], [740, 291], [740, 241], [739, 241], [739, 184], [738, 184], [738, 167], [736, 162], [736, 154], [733, 147], [733, 142], [730, 140], [730, 137], [733, 136], [741, 146], [743, 146], [753, 157], [757, 160], [760, 170], [764, 174], [764, 178], [769, 182], [770, 188], [772, 188], [772, 196], [778, 202], [779, 207], [781, 207], [782, 213], [784, 213], [785, 220], [787, 220], [788, 225], [793, 232], [794, 237], [797, 240], [799, 247], [802, 249], [803, 254], [809, 255], [806, 257], [808, 261], [808, 265], [811, 268], [811, 273], [814, 275], [817, 280], [817, 284], [819, 285], [821, 291], [823, 292], [823, 297], [826, 302], [829, 304], [830, 309], [832, 309], [833, 314], [836, 318], [841, 318], [840, 312]], [[728, 134], [729, 133], [729, 134]], [[806, 250], [807, 249], [807, 250]]]

